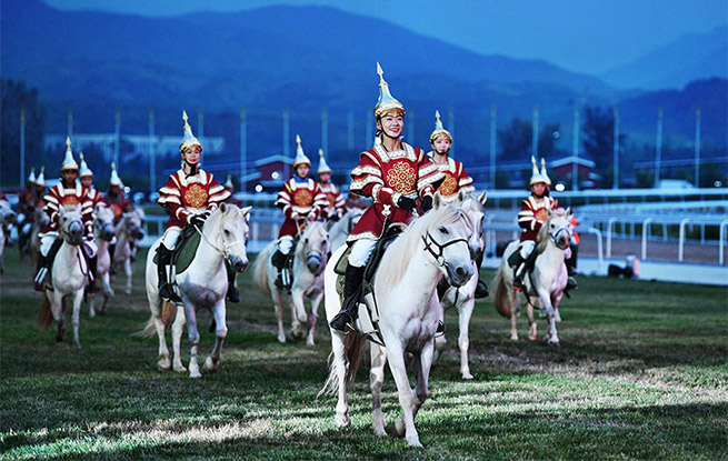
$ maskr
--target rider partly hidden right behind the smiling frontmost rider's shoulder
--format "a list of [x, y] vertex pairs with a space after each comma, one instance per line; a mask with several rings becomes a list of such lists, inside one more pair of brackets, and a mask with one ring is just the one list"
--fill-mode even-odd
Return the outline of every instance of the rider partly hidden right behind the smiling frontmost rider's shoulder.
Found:
[[[440, 120], [440, 111], [435, 111], [435, 130], [430, 134], [430, 146], [432, 150], [427, 156], [432, 160], [442, 174], [445, 181], [437, 189], [442, 196], [445, 203], [452, 203], [458, 198], [458, 192], [463, 193], [475, 192], [476, 188], [472, 186], [472, 178], [466, 173], [461, 162], [449, 157], [450, 147], [452, 146], [452, 134], [442, 126]], [[476, 255], [476, 263], [478, 271], [482, 264], [482, 251]], [[488, 295], [488, 285], [482, 280], [478, 280], [476, 288], [476, 298], [485, 298]]]

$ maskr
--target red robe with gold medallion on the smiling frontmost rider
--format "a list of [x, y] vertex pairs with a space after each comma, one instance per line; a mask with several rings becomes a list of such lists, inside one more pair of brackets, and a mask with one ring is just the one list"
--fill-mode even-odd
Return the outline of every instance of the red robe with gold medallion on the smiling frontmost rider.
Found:
[[421, 149], [402, 142], [402, 150], [387, 152], [381, 144], [360, 156], [351, 171], [349, 191], [373, 200], [353, 227], [347, 242], [378, 240], [387, 223], [409, 223], [412, 213], [397, 207], [401, 196], [432, 196], [432, 184], [442, 179], [437, 166]]

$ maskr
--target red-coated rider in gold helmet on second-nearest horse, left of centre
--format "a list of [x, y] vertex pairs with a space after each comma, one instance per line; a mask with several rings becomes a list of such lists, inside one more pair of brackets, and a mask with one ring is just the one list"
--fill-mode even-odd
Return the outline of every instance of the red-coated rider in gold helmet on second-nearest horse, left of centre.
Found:
[[[167, 230], [159, 245], [157, 270], [159, 274], [159, 295], [166, 300], [181, 302], [167, 281], [167, 265], [171, 261], [172, 250], [177, 245], [179, 234], [186, 224], [202, 228], [205, 220], [223, 202], [230, 192], [220, 186], [212, 174], [200, 168], [202, 144], [192, 134], [192, 128], [187, 122], [187, 112], [182, 111], [185, 120], [185, 137], [179, 146], [182, 157], [182, 168], [169, 176], [167, 183], [159, 190], [157, 202], [170, 214]], [[226, 262], [228, 270], [227, 300], [240, 301], [240, 293], [235, 288], [235, 271]]]

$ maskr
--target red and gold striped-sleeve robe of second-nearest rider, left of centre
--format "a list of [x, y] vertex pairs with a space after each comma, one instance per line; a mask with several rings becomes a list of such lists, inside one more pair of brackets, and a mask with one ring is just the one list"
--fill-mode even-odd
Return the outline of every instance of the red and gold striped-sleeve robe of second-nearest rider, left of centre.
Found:
[[167, 228], [183, 228], [197, 212], [213, 211], [230, 197], [230, 192], [218, 184], [212, 174], [201, 169], [190, 177], [186, 177], [182, 169], [177, 170], [169, 176], [159, 194], [157, 203], [170, 213]]

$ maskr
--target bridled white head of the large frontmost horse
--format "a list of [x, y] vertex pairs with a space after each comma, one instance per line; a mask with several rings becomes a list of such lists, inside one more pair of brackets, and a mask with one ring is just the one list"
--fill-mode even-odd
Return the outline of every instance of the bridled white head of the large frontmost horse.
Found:
[[435, 193], [432, 204], [433, 212], [420, 218], [426, 224], [425, 250], [435, 258], [451, 285], [462, 287], [475, 273], [469, 244], [472, 226], [459, 207], [446, 206], [439, 192]]

